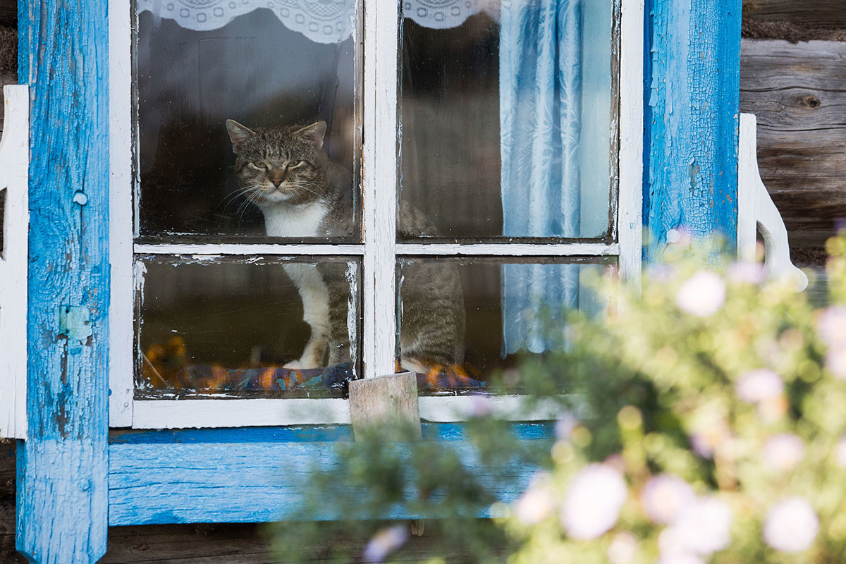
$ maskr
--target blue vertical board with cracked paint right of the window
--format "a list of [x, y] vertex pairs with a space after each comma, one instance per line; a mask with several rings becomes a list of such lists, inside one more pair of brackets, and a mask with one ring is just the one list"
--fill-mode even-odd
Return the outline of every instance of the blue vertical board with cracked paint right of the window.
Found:
[[686, 227], [737, 228], [739, 0], [651, 0], [645, 48], [646, 253]]

